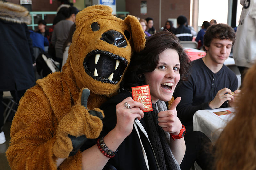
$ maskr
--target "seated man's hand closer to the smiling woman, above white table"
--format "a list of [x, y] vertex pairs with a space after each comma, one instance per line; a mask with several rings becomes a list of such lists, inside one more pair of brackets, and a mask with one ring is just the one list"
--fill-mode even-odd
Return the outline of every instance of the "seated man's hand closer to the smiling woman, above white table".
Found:
[[211, 109], [219, 108], [225, 101], [233, 100], [234, 96], [231, 95], [231, 90], [228, 88], [223, 88], [219, 90], [212, 101], [209, 102], [209, 107]]

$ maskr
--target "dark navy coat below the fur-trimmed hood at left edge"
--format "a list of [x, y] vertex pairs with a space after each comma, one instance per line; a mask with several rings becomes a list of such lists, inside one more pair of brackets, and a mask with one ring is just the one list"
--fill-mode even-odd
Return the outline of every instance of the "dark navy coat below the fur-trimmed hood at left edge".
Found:
[[32, 40], [28, 26], [0, 19], [0, 91], [35, 85]]

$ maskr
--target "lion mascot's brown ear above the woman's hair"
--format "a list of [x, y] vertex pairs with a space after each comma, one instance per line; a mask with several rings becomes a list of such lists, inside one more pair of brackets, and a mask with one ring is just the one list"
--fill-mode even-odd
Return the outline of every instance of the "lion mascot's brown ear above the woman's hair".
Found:
[[140, 52], [145, 47], [145, 33], [140, 25], [140, 22], [135, 16], [128, 15], [124, 22], [131, 27], [132, 30], [132, 41], [133, 49], [135, 52]]

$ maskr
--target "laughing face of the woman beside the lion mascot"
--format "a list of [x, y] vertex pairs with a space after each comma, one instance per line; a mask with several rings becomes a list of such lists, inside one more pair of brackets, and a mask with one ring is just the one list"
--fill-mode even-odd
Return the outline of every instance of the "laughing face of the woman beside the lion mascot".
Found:
[[153, 103], [157, 100], [169, 101], [180, 81], [180, 60], [176, 50], [166, 49], [159, 54], [159, 62], [154, 71], [144, 73], [149, 84]]

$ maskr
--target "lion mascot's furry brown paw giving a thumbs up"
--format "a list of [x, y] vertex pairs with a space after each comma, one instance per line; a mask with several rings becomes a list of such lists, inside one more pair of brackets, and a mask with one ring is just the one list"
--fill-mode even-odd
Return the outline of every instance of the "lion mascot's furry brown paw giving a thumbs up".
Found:
[[59, 158], [67, 158], [77, 153], [88, 138], [99, 137], [102, 131], [104, 118], [103, 111], [99, 108], [89, 110], [87, 100], [90, 90], [82, 89], [78, 103], [72, 107], [70, 114], [65, 115], [58, 125], [56, 131], [56, 142], [53, 153]]

